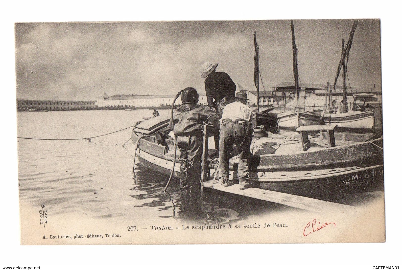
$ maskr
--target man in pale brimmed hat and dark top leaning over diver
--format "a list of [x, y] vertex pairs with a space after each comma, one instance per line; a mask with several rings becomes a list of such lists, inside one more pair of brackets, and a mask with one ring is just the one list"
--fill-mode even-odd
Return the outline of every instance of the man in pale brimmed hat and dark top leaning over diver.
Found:
[[[202, 65], [203, 73], [201, 74], [201, 78], [207, 78], [204, 84], [208, 106], [215, 110], [220, 118], [225, 106], [230, 103], [230, 98], [236, 92], [236, 84], [227, 73], [216, 72], [215, 69], [217, 66], [218, 63], [204, 63]], [[214, 141], [216, 152], [212, 156], [217, 156], [219, 153], [219, 130], [214, 131]]]

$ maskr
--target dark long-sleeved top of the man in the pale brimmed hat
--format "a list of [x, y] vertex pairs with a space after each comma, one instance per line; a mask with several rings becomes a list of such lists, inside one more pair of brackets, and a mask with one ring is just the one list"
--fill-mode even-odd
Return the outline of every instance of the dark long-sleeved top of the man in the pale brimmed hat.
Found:
[[[207, 79], [205, 79], [204, 84], [209, 107], [215, 107], [216, 102], [224, 97], [230, 100], [230, 97], [233, 97], [236, 91], [236, 84], [225, 72], [215, 72], [214, 75], [210, 74]], [[215, 99], [215, 103], [213, 99]]]

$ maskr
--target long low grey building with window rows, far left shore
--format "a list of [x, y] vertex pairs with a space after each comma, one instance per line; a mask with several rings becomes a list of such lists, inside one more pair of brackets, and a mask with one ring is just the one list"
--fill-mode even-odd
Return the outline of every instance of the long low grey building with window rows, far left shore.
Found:
[[17, 111], [93, 110], [95, 101], [17, 99]]

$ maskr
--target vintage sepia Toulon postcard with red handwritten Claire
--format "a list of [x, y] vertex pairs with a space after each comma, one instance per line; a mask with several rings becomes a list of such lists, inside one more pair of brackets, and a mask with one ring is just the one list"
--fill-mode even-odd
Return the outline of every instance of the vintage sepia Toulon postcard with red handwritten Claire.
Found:
[[15, 24], [23, 245], [385, 242], [380, 20]]

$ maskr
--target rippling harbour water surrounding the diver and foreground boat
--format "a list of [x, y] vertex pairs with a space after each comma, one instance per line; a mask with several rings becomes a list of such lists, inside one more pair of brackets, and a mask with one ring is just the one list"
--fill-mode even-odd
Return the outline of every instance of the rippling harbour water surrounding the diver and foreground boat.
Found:
[[[160, 113], [168, 113], [167, 111]], [[82, 138], [132, 126], [151, 110], [95, 110], [19, 112], [18, 136]], [[133, 173], [131, 129], [91, 142], [18, 140], [20, 200], [24, 205], [44, 204], [52, 215], [75, 213], [83, 217], [125, 219], [141, 216], [149, 221], [173, 219], [195, 223], [234, 223], [254, 215], [301, 211], [241, 196], [179, 191], [172, 181], [141, 167]], [[126, 143], [127, 142], [127, 143]], [[123, 147], [124, 146], [124, 147]]]

